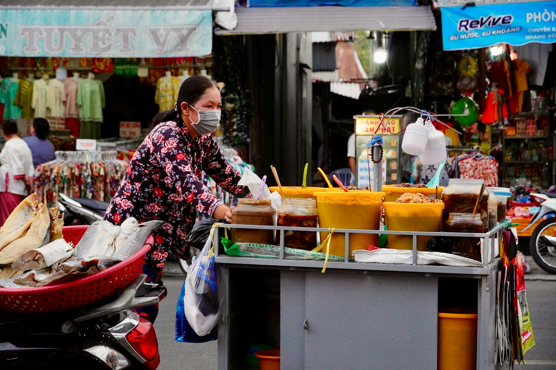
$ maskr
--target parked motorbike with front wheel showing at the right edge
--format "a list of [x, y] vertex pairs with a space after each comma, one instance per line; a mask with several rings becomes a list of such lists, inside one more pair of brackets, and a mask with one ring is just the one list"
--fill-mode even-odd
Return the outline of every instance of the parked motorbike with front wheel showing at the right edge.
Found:
[[537, 190], [529, 196], [538, 206], [539, 212], [534, 215], [527, 227], [522, 232], [529, 230], [540, 222], [529, 239], [529, 250], [533, 260], [544, 271], [556, 274], [556, 194]]

